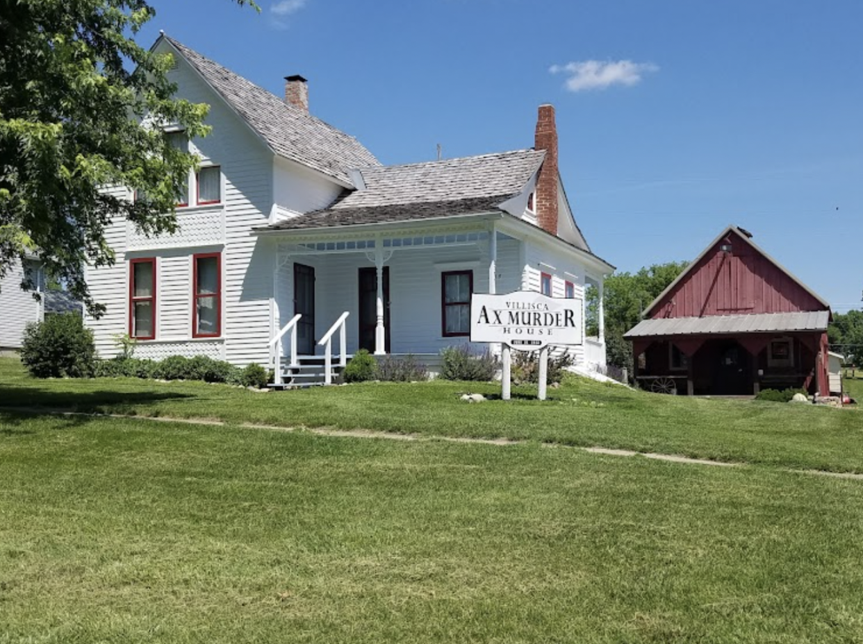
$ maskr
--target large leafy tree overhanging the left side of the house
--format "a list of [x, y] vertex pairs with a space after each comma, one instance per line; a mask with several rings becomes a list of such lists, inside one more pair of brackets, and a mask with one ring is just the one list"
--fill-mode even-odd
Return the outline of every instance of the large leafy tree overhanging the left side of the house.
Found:
[[196, 165], [152, 125], [208, 132], [208, 106], [173, 97], [170, 57], [135, 42], [154, 16], [145, 0], [0, 0], [0, 277], [35, 254], [93, 315], [84, 267], [113, 263], [110, 217], [173, 232]]

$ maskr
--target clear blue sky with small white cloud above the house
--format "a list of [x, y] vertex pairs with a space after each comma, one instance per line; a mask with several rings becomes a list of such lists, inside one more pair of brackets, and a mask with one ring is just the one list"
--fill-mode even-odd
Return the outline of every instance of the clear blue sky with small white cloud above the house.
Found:
[[859, 0], [153, 0], [159, 29], [383, 163], [531, 147], [553, 103], [594, 252], [693, 259], [729, 223], [834, 309], [863, 290]]

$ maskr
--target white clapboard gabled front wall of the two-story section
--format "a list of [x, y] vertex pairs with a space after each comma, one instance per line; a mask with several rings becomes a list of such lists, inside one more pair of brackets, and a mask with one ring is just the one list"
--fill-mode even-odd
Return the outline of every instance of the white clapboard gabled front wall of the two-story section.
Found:
[[[96, 335], [99, 354], [115, 355], [112, 336], [129, 330], [129, 259], [153, 257], [158, 281], [156, 339], [139, 341], [135, 355], [160, 359], [171, 354], [205, 354], [240, 365], [265, 363], [273, 261], [272, 252], [251, 231], [266, 224], [272, 208], [273, 156], [185, 61], [180, 60], [172, 80], [179, 85], [180, 96], [211, 105], [206, 122], [212, 133], [191, 141], [191, 149], [202, 158], [202, 165], [221, 168], [222, 203], [197, 207], [192, 201], [190, 207], [177, 211], [178, 233], [158, 239], [142, 238], [131, 227], [127, 230], [125, 222], [113, 224], [108, 241], [117, 252], [117, 265], [88, 271], [93, 296], [108, 312], [88, 324]], [[192, 182], [192, 200], [194, 197]], [[222, 338], [192, 339], [192, 255], [219, 251]]]

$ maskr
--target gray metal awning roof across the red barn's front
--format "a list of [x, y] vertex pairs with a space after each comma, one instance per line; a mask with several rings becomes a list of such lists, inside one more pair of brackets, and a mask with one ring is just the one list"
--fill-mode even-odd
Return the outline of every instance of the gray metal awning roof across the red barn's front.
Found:
[[826, 331], [829, 321], [829, 311], [754, 313], [743, 316], [666, 317], [659, 320], [642, 320], [635, 327], [629, 329], [623, 337]]

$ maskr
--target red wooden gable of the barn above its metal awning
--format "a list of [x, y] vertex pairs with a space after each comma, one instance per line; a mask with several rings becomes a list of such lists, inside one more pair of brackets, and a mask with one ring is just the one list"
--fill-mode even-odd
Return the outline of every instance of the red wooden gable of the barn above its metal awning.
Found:
[[[730, 247], [724, 248], [724, 247]], [[729, 226], [645, 310], [677, 318], [827, 310], [740, 228]]]

